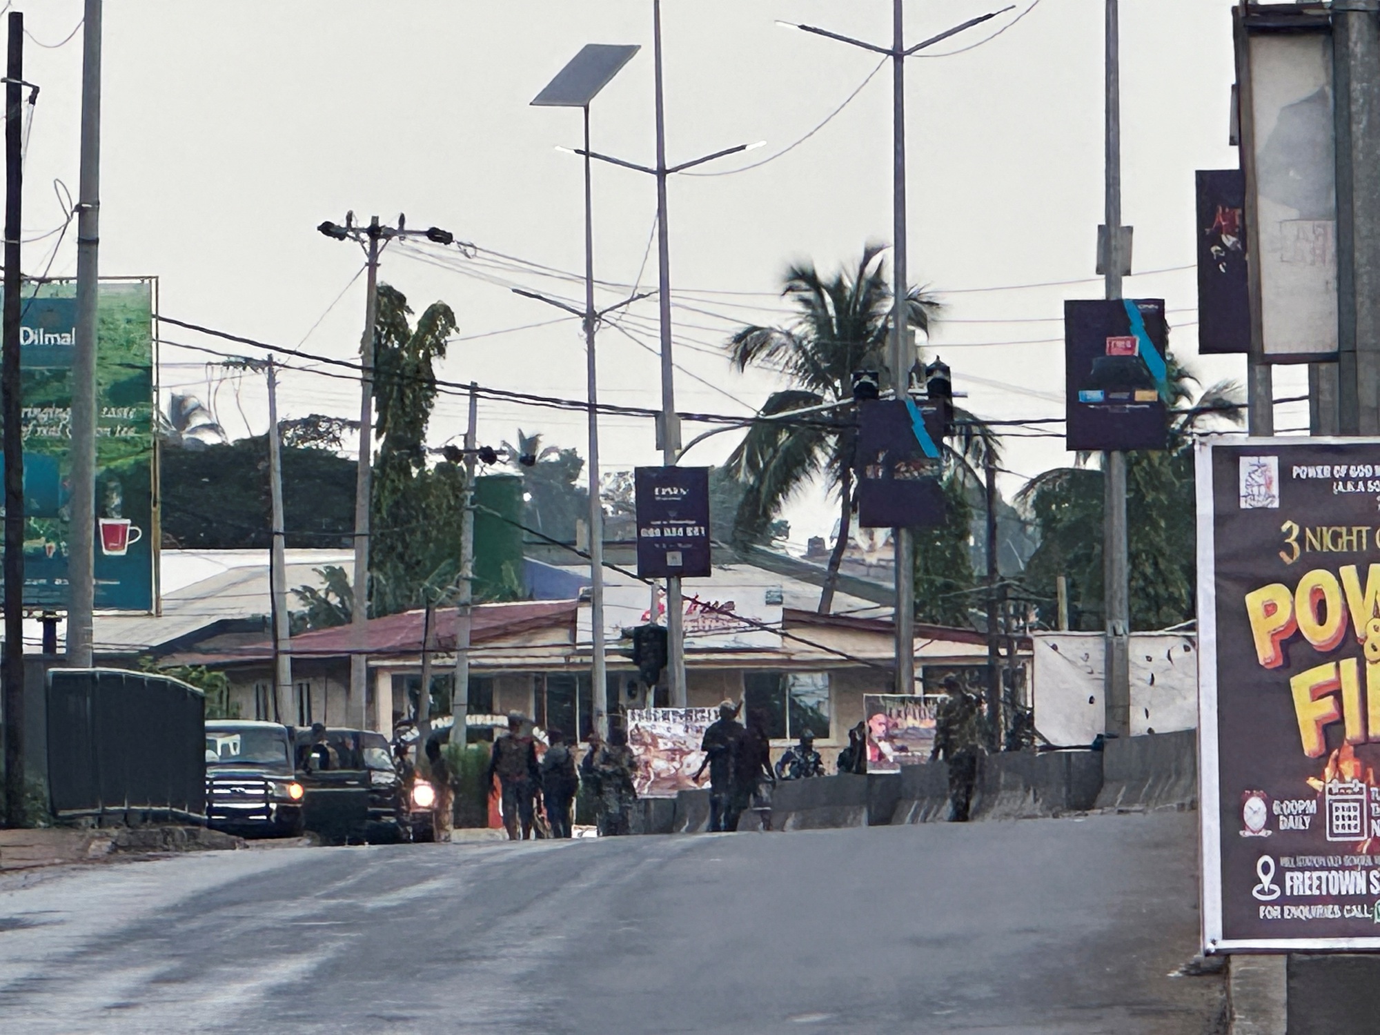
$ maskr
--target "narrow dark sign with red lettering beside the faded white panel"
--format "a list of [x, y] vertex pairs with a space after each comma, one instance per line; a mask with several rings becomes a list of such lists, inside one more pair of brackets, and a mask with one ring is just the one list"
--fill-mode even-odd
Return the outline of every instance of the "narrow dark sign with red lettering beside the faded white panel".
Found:
[[1239, 168], [1199, 170], [1196, 193], [1198, 352], [1250, 352], [1246, 175]]

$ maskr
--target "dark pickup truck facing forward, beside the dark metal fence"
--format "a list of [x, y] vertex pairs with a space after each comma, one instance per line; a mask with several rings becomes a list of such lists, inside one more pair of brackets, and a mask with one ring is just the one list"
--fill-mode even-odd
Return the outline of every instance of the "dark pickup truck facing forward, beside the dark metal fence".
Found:
[[304, 796], [286, 726], [206, 723], [208, 827], [246, 838], [298, 836], [304, 829]]

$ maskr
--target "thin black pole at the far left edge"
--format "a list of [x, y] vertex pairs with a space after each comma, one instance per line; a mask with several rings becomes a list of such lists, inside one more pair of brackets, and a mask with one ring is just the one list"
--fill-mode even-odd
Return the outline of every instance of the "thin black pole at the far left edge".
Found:
[[10, 14], [4, 124], [4, 322], [0, 408], [4, 428], [4, 814], [23, 825], [23, 399], [19, 381], [19, 270], [23, 197], [23, 15]]

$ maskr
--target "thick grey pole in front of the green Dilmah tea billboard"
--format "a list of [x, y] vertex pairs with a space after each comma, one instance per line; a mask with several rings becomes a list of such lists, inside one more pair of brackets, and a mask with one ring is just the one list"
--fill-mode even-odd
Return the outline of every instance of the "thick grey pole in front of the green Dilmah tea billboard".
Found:
[[77, 188], [77, 326], [72, 351], [72, 520], [68, 526], [68, 664], [91, 667], [95, 609], [95, 335], [101, 247], [101, 0], [81, 26], [81, 182]]

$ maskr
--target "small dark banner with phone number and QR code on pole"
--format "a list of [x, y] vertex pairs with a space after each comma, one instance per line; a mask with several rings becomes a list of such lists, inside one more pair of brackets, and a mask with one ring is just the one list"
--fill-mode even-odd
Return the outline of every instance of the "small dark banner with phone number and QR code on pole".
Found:
[[709, 468], [638, 468], [639, 578], [709, 577]]

